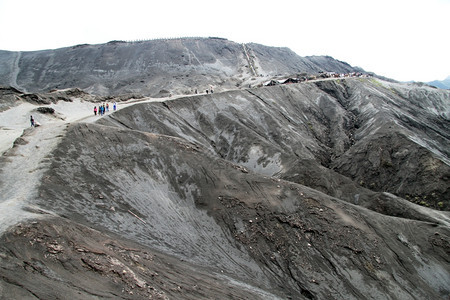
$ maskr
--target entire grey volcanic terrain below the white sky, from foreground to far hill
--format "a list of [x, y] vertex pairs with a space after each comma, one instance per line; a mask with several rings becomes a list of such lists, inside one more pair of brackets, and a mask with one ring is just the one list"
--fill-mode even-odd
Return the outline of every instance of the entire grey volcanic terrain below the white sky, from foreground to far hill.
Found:
[[219, 38], [0, 65], [0, 298], [450, 296], [450, 91]]

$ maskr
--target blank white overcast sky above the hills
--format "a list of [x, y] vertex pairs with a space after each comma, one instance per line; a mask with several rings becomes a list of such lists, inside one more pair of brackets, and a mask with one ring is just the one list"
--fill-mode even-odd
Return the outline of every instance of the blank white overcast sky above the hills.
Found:
[[450, 0], [0, 0], [0, 50], [218, 36], [400, 81], [450, 75]]

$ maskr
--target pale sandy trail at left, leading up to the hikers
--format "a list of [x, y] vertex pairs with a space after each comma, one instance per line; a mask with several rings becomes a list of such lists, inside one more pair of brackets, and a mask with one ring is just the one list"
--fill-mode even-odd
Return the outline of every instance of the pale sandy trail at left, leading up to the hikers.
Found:
[[[155, 100], [131, 100], [119, 104], [119, 107], [124, 108], [145, 101]], [[25, 128], [13, 147], [3, 153], [0, 158], [0, 233], [24, 219], [51, 214], [31, 204], [32, 200], [38, 197], [37, 187], [51, 163], [48, 157], [64, 137], [65, 129], [70, 123], [93, 123], [100, 118], [92, 113], [94, 105], [96, 104], [78, 101], [53, 104], [59, 118], [38, 116], [42, 125]], [[112, 113], [114, 112], [110, 111], [106, 115]], [[17, 115], [17, 112], [14, 114]], [[28, 106], [23, 114], [36, 115]], [[17, 124], [10, 124], [11, 127], [24, 126], [23, 118], [4, 115], [2, 117], [14, 119]]]

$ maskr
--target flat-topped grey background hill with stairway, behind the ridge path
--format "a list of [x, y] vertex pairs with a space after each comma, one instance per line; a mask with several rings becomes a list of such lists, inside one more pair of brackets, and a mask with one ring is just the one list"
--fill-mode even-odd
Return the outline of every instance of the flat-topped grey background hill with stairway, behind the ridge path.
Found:
[[[327, 56], [300, 57], [288, 48], [182, 38], [78, 45], [32, 52], [0, 51], [0, 85], [42, 92], [78, 87], [96, 95], [158, 95], [254, 85], [275, 75], [360, 68]], [[262, 76], [262, 77], [261, 77]]]

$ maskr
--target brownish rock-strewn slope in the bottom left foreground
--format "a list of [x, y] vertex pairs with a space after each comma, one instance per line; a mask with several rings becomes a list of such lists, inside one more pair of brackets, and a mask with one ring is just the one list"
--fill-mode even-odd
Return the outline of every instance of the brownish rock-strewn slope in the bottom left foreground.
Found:
[[217, 270], [63, 218], [16, 226], [0, 251], [1, 299], [270, 298]]

